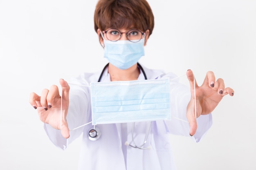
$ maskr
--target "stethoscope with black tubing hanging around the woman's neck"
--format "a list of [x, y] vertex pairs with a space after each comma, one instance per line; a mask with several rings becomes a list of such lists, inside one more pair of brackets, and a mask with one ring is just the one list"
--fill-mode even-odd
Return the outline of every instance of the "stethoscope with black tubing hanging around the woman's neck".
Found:
[[[108, 67], [108, 65], [109, 65], [109, 63], [103, 68], [103, 70], [101, 72], [101, 75], [99, 76], [98, 82], [101, 82], [102, 75], [105, 72], [105, 70]], [[141, 69], [145, 79], [147, 79], [146, 73], [145, 73], [144, 69], [142, 68], [142, 66], [139, 63], [137, 63], [137, 65]], [[131, 142], [132, 144], [129, 144], [128, 141], [126, 141], [125, 145], [126, 146], [131, 146], [132, 148], [138, 148], [138, 149], [150, 149], [150, 147], [143, 148], [143, 146], [147, 142], [148, 134], [149, 134], [150, 127], [151, 127], [151, 122], [150, 122], [150, 125], [148, 126], [148, 130], [147, 130], [147, 133], [145, 135], [144, 143], [141, 144], [140, 146], [137, 146], [135, 144], [135, 141], [134, 141], [134, 126], [135, 126], [135, 123], [132, 123], [132, 142]], [[100, 131], [100, 129], [98, 127], [96, 127], [96, 125], [94, 125], [93, 129], [89, 130], [88, 135], [89, 135], [89, 139], [90, 140], [97, 141], [101, 137], [101, 131]]]

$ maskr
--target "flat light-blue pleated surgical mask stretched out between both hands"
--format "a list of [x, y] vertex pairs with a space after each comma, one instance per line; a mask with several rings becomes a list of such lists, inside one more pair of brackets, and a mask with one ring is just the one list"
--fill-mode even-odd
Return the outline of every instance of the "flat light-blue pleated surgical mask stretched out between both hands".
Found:
[[171, 120], [168, 79], [91, 82], [92, 124]]

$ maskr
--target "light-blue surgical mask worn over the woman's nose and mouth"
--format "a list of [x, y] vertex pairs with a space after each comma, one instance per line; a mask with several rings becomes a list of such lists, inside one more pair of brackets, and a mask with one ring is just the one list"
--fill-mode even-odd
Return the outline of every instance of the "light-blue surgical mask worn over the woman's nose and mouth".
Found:
[[112, 42], [103, 38], [104, 57], [117, 68], [128, 69], [144, 56], [144, 40], [145, 37], [138, 42], [130, 42], [129, 40]]

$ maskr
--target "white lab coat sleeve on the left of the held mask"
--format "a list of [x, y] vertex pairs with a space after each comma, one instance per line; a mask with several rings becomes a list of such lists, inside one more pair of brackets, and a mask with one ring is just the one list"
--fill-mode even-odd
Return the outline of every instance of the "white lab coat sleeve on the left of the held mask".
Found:
[[[81, 82], [74, 82], [74, 84], [81, 84]], [[70, 104], [67, 113], [67, 124], [69, 129], [72, 130], [91, 121], [89, 88], [70, 85], [69, 99]], [[81, 127], [70, 131], [70, 137], [65, 139], [61, 135], [61, 130], [56, 130], [49, 124], [44, 124], [44, 128], [52, 143], [63, 150], [65, 150], [74, 139], [79, 137], [84, 129], [84, 127]]]

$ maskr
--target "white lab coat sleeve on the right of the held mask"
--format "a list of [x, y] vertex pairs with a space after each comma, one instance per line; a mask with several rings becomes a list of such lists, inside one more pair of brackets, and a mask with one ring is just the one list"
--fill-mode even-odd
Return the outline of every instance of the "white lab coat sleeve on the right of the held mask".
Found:
[[[168, 132], [174, 135], [191, 137], [190, 126], [186, 118], [186, 107], [190, 101], [190, 89], [178, 82], [170, 84], [171, 96], [171, 121], [165, 121]], [[201, 115], [197, 118], [198, 128], [191, 137], [194, 141], [199, 142], [212, 125], [212, 115]]]

